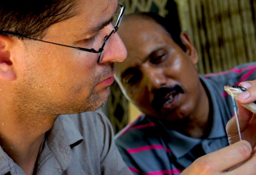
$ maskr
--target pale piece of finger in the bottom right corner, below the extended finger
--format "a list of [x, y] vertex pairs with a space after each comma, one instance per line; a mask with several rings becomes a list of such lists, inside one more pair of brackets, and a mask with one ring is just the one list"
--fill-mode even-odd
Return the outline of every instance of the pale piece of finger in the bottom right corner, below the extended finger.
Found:
[[246, 161], [240, 167], [233, 169], [232, 171], [227, 172], [227, 175], [234, 175], [234, 174], [246, 174], [246, 175], [255, 175], [256, 172], [256, 154], [255, 150], [253, 150], [252, 157]]

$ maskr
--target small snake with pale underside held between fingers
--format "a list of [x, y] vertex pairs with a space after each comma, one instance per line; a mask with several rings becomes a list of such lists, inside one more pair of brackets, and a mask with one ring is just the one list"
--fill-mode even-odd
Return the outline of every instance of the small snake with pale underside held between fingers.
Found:
[[[246, 88], [243, 88], [241, 86], [232, 86], [232, 85], [226, 85], [224, 86], [224, 90], [231, 95], [231, 90], [234, 96], [234, 99], [236, 99], [236, 97], [240, 94], [243, 93], [244, 91], [246, 91]], [[241, 104], [243, 107], [245, 107], [246, 109], [252, 111], [253, 113], [256, 114], [256, 101], [249, 103], [249, 104]]]

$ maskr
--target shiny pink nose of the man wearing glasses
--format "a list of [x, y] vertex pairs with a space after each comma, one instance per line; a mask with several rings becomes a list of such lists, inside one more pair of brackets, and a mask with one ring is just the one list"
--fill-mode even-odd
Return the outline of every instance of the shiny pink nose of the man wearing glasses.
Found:
[[[106, 28], [107, 27], [111, 28], [111, 31], [114, 30], [114, 27], [112, 25], [108, 25], [106, 26]], [[102, 54], [103, 55], [101, 63], [122, 62], [127, 57], [127, 50], [117, 32], [113, 33], [109, 37]]]

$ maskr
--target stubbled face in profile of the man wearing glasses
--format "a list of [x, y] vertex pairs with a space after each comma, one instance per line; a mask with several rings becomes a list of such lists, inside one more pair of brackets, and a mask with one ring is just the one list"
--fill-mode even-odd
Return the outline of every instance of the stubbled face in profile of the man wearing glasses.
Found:
[[[95, 50], [101, 47], [104, 37], [114, 30], [107, 22], [116, 11], [117, 0], [78, 3], [78, 15], [50, 26], [42, 40]], [[127, 54], [117, 33], [106, 43], [101, 64], [95, 53], [32, 40], [17, 42], [20, 45], [13, 55], [22, 59], [16, 59], [20, 67], [14, 103], [38, 108], [42, 114], [45, 109], [49, 114], [65, 114], [101, 107], [114, 81], [114, 61], [123, 61]]]

